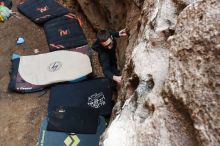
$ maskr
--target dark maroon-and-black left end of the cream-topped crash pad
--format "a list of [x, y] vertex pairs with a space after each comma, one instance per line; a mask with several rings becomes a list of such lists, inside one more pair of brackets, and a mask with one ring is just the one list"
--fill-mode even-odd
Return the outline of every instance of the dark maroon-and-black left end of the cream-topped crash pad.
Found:
[[22, 79], [18, 72], [20, 63], [20, 58], [12, 60], [12, 67], [10, 71], [10, 82], [8, 85], [8, 89], [10, 91], [16, 91], [21, 93], [29, 93], [40, 91], [45, 88], [45, 86], [33, 85]]

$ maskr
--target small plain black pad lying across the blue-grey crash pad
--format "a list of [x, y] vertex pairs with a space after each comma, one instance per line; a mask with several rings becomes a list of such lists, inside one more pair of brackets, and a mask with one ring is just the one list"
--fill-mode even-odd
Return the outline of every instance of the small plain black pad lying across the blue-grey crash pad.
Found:
[[95, 134], [98, 111], [88, 108], [55, 107], [49, 114], [47, 130], [67, 133]]

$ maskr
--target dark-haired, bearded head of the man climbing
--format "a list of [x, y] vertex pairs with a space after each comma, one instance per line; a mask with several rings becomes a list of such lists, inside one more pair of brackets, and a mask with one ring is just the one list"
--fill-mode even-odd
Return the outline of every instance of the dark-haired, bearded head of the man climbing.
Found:
[[100, 30], [97, 33], [97, 40], [103, 47], [107, 49], [112, 49], [113, 47], [112, 36], [107, 30]]

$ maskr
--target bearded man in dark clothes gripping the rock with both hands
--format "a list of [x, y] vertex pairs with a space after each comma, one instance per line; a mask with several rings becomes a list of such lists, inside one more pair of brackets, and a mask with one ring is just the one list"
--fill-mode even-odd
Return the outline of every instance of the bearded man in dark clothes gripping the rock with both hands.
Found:
[[121, 36], [127, 36], [126, 29], [119, 32], [100, 30], [97, 33], [97, 40], [92, 45], [92, 49], [98, 52], [99, 62], [105, 77], [117, 84], [121, 84], [121, 75], [117, 68], [116, 38]]

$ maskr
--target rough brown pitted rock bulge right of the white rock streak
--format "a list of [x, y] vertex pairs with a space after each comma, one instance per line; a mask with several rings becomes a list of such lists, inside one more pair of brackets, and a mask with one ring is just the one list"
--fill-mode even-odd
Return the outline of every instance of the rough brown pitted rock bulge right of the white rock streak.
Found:
[[220, 144], [220, 1], [201, 1], [180, 14], [170, 38], [165, 92], [187, 109], [202, 145]]

